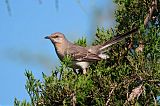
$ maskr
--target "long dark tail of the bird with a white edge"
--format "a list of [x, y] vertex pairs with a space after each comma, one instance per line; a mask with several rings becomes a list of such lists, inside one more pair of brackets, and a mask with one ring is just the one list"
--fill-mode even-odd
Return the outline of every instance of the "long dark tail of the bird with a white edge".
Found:
[[116, 37], [114, 37], [111, 40], [109, 40], [109, 41], [105, 42], [104, 44], [102, 44], [99, 50], [100, 51], [104, 50], [105, 48], [107, 48], [107, 47], [109, 47], [109, 46], [111, 46], [111, 45], [123, 40], [125, 37], [129, 36], [130, 34], [132, 34], [133, 32], [136, 32], [136, 31], [138, 31], [138, 28], [134, 28], [131, 31], [128, 31], [128, 32], [126, 32], [124, 34], [117, 35]]

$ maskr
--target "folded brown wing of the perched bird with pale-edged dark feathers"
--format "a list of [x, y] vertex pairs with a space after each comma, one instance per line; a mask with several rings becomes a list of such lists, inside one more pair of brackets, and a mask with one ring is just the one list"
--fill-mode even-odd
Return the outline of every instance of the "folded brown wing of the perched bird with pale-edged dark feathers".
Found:
[[65, 54], [70, 55], [75, 61], [94, 62], [101, 60], [101, 58], [94, 53], [89, 52], [85, 47], [78, 45], [71, 45]]

